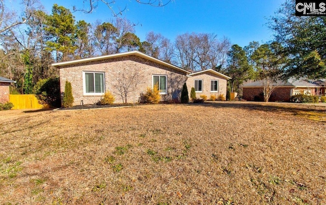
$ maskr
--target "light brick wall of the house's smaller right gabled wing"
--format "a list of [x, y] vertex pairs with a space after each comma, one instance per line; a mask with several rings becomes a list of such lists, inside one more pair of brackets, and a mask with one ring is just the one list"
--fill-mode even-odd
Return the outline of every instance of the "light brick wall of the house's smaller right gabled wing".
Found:
[[[196, 92], [197, 98], [200, 98], [200, 95], [206, 95], [207, 99], [209, 99], [210, 95], [219, 96], [220, 94], [223, 94], [224, 97], [226, 97], [227, 80], [211, 72], [204, 72], [204, 73], [199, 73], [198, 75], [192, 75], [191, 77], [188, 77], [187, 89], [189, 93], [189, 99], [190, 99], [190, 93], [192, 87], [195, 87], [195, 79], [203, 80], [203, 89], [202, 89], [203, 92]], [[218, 92], [210, 91], [210, 80], [219, 80]]]

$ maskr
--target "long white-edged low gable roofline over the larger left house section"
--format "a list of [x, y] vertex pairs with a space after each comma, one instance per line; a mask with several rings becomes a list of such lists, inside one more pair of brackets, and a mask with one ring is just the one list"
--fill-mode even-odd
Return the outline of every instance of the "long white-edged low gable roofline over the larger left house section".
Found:
[[137, 50], [133, 50], [133, 51], [128, 51], [128, 52], [122, 52], [122, 53], [115, 53], [115, 54], [110, 54], [110, 55], [102, 55], [102, 56], [97, 56], [97, 57], [88, 57], [88, 58], [82, 58], [82, 59], [78, 59], [78, 60], [73, 60], [73, 61], [65, 61], [65, 62], [60, 62], [60, 63], [54, 63], [52, 64], [52, 66], [54, 67], [60, 67], [60, 66], [67, 66], [67, 65], [74, 65], [74, 64], [78, 64], [78, 63], [85, 63], [85, 62], [92, 62], [92, 61], [100, 61], [100, 60], [105, 60], [105, 59], [109, 59], [109, 58], [115, 58], [115, 57], [124, 57], [124, 56], [129, 56], [129, 55], [136, 55], [139, 57], [143, 57], [149, 61], [167, 66], [169, 68], [173, 68], [179, 71], [182, 71], [184, 73], [191, 73], [187, 70], [184, 70], [182, 68], [179, 68], [177, 66], [174, 66], [172, 64], [166, 63], [164, 61], [161, 61], [155, 57], [146, 55], [145, 53], [142, 53], [140, 51]]

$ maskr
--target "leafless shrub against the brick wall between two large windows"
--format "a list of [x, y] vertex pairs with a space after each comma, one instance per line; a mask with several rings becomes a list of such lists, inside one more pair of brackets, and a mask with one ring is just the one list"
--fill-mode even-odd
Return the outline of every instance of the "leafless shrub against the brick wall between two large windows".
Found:
[[127, 103], [128, 94], [131, 92], [133, 104], [136, 103], [137, 91], [141, 84], [144, 83], [144, 70], [127, 69], [119, 70], [116, 83], [113, 87], [116, 89], [114, 93], [121, 96], [122, 102]]

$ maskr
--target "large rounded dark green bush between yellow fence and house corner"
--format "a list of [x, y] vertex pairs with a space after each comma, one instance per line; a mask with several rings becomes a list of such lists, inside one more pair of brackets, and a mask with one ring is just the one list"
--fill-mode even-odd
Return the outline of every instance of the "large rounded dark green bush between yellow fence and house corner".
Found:
[[61, 106], [59, 77], [39, 80], [33, 88], [33, 93], [40, 104], [49, 104], [52, 107]]

